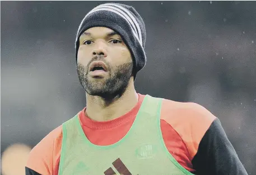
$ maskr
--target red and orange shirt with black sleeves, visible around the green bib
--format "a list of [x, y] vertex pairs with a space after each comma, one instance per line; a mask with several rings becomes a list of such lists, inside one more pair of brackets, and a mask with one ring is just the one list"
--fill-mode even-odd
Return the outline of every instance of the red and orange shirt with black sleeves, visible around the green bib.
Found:
[[[133, 124], [145, 95], [127, 114], [109, 121], [94, 121], [80, 111], [80, 124], [90, 142], [118, 142]], [[185, 169], [194, 174], [247, 174], [226, 137], [220, 121], [196, 103], [163, 100], [161, 131], [166, 148]], [[26, 175], [57, 175], [62, 146], [62, 125], [50, 132], [32, 150]]]

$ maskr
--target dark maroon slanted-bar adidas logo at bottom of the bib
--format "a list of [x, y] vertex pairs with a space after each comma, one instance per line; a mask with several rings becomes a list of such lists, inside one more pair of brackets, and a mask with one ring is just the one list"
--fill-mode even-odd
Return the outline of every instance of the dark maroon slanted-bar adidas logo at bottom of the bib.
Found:
[[[124, 163], [121, 161], [120, 158], [118, 158], [117, 160], [115, 160], [113, 163], [113, 166], [115, 168], [115, 170], [120, 174], [120, 175], [132, 175], [131, 172], [129, 172], [128, 168], [124, 165]], [[115, 173], [115, 171], [113, 170], [113, 168], [109, 168], [104, 172], [105, 175], [118, 175], [117, 173]]]

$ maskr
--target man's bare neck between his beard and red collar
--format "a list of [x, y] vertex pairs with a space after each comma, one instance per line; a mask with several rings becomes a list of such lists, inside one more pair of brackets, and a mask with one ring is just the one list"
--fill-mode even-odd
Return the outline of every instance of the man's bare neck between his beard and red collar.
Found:
[[86, 115], [95, 121], [107, 121], [128, 113], [138, 102], [138, 94], [134, 88], [133, 78], [121, 96], [106, 100], [101, 96], [86, 93]]

